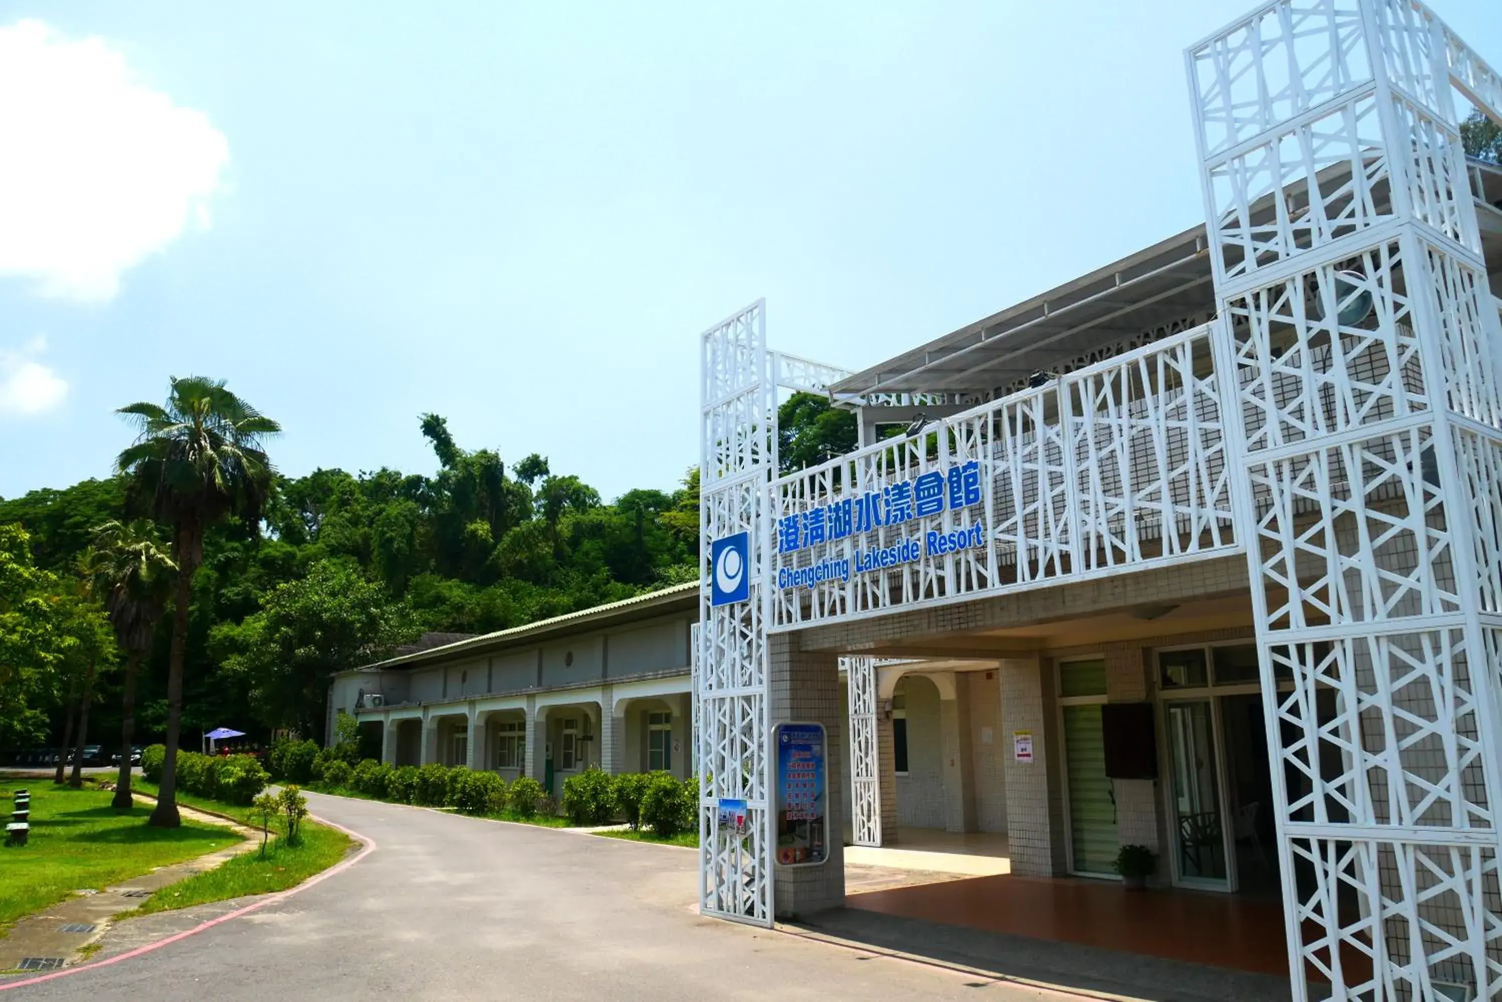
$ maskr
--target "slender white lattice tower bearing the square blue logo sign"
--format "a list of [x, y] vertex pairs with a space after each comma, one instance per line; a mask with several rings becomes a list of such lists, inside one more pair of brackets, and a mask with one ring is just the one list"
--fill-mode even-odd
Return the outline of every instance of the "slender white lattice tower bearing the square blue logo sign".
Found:
[[[700, 910], [772, 925], [771, 706], [766, 569], [772, 545], [771, 479], [777, 461], [777, 391], [823, 392], [847, 376], [769, 352], [766, 300], [701, 338], [700, 631], [694, 644], [698, 745]], [[746, 533], [746, 598], [712, 604], [712, 542]], [[719, 831], [719, 801], [745, 801], [748, 831]]]

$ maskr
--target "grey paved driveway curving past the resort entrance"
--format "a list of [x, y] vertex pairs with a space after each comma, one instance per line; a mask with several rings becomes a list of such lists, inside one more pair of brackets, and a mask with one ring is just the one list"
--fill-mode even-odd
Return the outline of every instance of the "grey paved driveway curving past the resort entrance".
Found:
[[[309, 801], [314, 813], [374, 838], [377, 852], [155, 952], [0, 999], [1039, 997], [700, 918], [689, 850], [368, 801]], [[119, 936], [188, 918], [134, 919]], [[107, 955], [119, 948], [117, 937]]]

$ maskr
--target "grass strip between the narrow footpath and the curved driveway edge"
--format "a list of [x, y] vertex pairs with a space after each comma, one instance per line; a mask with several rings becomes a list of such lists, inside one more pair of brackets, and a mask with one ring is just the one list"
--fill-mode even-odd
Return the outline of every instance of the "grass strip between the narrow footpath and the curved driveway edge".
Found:
[[[141, 793], [156, 795], [156, 787], [144, 780], [137, 780], [132, 786]], [[228, 814], [251, 828], [260, 828], [251, 817], [251, 808], [240, 804], [225, 804], [198, 796], [197, 793], [180, 795], [177, 802], [185, 807], [213, 811], [215, 814]], [[273, 826], [272, 831], [278, 832], [281, 829]], [[284, 840], [273, 838], [266, 849], [264, 858], [260, 850], [248, 852], [230, 859], [222, 867], [191, 876], [170, 888], [162, 888], [138, 912], [132, 912], [132, 915], [167, 912], [248, 894], [285, 891], [344, 859], [353, 844], [354, 841], [344, 832], [312, 820], [305, 820], [302, 823], [302, 844], [287, 846]]]

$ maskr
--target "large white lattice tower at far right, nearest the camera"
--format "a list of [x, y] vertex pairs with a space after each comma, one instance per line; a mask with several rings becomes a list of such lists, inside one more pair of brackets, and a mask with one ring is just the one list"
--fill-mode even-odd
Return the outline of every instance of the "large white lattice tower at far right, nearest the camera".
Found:
[[1262, 687], [1293, 682], [1293, 997], [1502, 997], [1502, 324], [1451, 83], [1499, 120], [1502, 86], [1410, 0], [1269, 3], [1187, 63]]

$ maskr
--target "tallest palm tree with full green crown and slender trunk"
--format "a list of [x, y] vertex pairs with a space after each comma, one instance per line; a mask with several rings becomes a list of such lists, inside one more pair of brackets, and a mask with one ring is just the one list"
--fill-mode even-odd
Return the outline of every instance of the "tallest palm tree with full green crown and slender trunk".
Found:
[[138, 403], [117, 413], [135, 419], [140, 434], [116, 460], [131, 478], [129, 497], [173, 533], [177, 580], [173, 589], [173, 646], [167, 665], [167, 759], [149, 823], [177, 828], [177, 730], [182, 723], [183, 655], [192, 578], [203, 563], [210, 526], [237, 518], [252, 530], [270, 497], [275, 470], [263, 439], [281, 431], [270, 418], [201, 376], [173, 379], [167, 404]]

